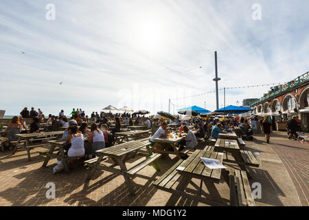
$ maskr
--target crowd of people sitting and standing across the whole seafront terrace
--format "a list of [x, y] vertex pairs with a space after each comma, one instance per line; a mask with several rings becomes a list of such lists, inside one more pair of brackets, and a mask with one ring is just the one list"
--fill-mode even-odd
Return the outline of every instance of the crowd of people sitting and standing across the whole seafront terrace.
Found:
[[[32, 118], [32, 122], [28, 127], [25, 118]], [[258, 120], [255, 118], [254, 120]], [[111, 122], [112, 121], [112, 122]], [[233, 119], [203, 119], [198, 117], [192, 117], [190, 120], [181, 121], [179, 117], [171, 120], [163, 120], [163, 118], [151, 118], [130, 113], [105, 113], [104, 111], [93, 111], [91, 117], [82, 109], [73, 109], [69, 114], [69, 117], [65, 115], [65, 112], [61, 110], [58, 115], [49, 114], [48, 119], [45, 119], [41, 109], [35, 111], [31, 108], [31, 111], [27, 110], [27, 107], [21, 111], [20, 116], [14, 116], [11, 122], [8, 124], [8, 137], [9, 141], [18, 140], [16, 136], [18, 133], [36, 133], [41, 132], [40, 123], [46, 122], [45, 131], [60, 131], [61, 127], [67, 127], [62, 139], [71, 144], [71, 151], [68, 151], [68, 155], [80, 156], [80, 155], [93, 155], [95, 157], [95, 151], [105, 147], [113, 146], [115, 144], [115, 133], [118, 133], [122, 129], [122, 124], [126, 125], [140, 125], [144, 124], [147, 129], [151, 130], [152, 137], [150, 142], [155, 142], [157, 137], [167, 137], [170, 131], [168, 131], [168, 124], [179, 124], [179, 128], [176, 132], [184, 132], [187, 137], [183, 142], [179, 142], [179, 149], [184, 147], [195, 148], [197, 145], [196, 137], [203, 138], [204, 140], [217, 140], [220, 133], [227, 133], [236, 131], [241, 135], [252, 135], [251, 125], [248, 120], [244, 118]], [[89, 129], [89, 122], [91, 123]], [[264, 131], [266, 142], [269, 143], [270, 135], [273, 132], [273, 122], [266, 116], [260, 120], [262, 130]], [[111, 126], [112, 125], [112, 126]], [[196, 131], [193, 135], [192, 130]], [[297, 131], [302, 131], [301, 120], [298, 116], [295, 116], [288, 120], [287, 125], [288, 138], [297, 139]], [[237, 133], [236, 132], [236, 133]], [[237, 133], [237, 134], [238, 134]], [[82, 137], [88, 137], [89, 146], [84, 146]], [[82, 147], [81, 147], [82, 146]], [[82, 150], [84, 148], [84, 151]], [[74, 150], [75, 149], [75, 150]], [[78, 150], [79, 149], [79, 150]]]

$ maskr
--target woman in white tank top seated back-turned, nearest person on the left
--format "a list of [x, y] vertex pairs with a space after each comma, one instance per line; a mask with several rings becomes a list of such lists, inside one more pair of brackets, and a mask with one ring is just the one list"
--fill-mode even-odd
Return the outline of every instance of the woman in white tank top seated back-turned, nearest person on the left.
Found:
[[73, 124], [69, 126], [69, 136], [67, 136], [67, 143], [71, 143], [68, 157], [81, 157], [84, 155], [84, 135], [78, 132], [78, 126]]

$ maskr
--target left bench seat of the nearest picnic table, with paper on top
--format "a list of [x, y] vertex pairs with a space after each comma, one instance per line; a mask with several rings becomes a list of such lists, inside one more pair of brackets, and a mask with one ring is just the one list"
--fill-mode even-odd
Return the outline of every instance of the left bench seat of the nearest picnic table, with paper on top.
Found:
[[177, 172], [176, 168], [183, 162], [183, 159], [179, 159], [174, 166], [166, 171], [159, 179], [157, 179], [152, 185], [162, 190], [170, 189], [181, 178], [181, 175]]

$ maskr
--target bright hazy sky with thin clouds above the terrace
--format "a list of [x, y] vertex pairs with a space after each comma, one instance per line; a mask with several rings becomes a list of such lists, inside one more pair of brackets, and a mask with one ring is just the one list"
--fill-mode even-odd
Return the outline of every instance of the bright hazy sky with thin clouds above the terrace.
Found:
[[[214, 51], [219, 107], [224, 87], [308, 72], [308, 8], [307, 0], [1, 0], [0, 109], [90, 115], [111, 104], [155, 114], [169, 111], [170, 99], [171, 113], [214, 111]], [[225, 104], [268, 90], [226, 89]]]

